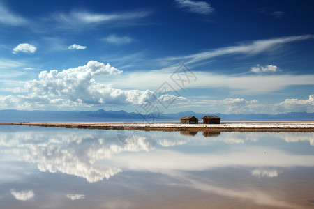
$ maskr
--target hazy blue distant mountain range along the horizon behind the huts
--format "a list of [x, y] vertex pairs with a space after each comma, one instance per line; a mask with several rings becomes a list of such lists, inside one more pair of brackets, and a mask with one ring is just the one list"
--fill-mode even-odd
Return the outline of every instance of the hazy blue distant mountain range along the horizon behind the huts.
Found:
[[15, 109], [0, 110], [0, 122], [73, 122], [73, 121], [179, 121], [182, 116], [195, 116], [199, 120], [204, 115], [220, 116], [221, 121], [313, 121], [314, 113], [290, 112], [288, 114], [219, 114], [219, 113], [195, 113], [184, 111], [176, 114], [140, 115], [126, 111], [25, 111]]

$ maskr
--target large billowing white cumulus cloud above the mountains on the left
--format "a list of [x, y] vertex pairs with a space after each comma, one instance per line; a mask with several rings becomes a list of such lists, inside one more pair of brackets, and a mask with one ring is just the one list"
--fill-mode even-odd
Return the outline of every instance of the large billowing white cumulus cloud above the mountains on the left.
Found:
[[[105, 104], [144, 104], [156, 102], [157, 96], [153, 91], [121, 90], [112, 88], [110, 84], [98, 83], [94, 77], [118, 75], [122, 71], [96, 61], [87, 65], [70, 68], [58, 72], [42, 71], [38, 79], [24, 82], [23, 87], [15, 88], [17, 97], [5, 96], [0, 98], [3, 107], [15, 102], [15, 108], [27, 109], [34, 107], [89, 107]], [[161, 95], [158, 99], [187, 101], [186, 98], [174, 95]], [[22, 105], [22, 107], [20, 107]]]

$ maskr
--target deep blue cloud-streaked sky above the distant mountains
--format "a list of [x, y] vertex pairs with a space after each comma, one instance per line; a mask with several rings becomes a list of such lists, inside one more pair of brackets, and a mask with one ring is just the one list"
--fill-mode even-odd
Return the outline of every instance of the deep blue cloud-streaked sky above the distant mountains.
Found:
[[311, 113], [313, 9], [0, 0], [0, 109]]

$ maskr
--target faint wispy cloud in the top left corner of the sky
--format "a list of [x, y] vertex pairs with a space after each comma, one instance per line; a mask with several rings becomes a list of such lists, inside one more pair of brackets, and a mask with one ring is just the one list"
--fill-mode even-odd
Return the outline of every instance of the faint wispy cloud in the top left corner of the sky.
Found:
[[28, 23], [27, 19], [11, 13], [3, 3], [0, 3], [0, 23], [12, 26], [20, 26]]

